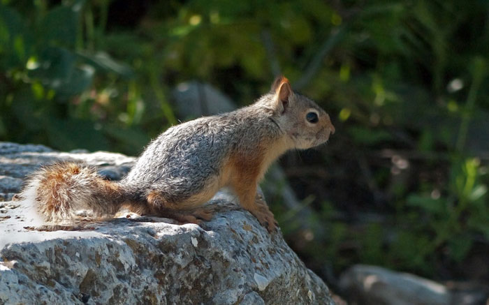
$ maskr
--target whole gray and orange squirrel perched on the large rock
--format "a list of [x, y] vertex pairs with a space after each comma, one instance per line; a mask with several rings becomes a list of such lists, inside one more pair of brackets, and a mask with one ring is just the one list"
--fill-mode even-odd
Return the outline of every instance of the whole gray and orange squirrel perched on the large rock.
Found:
[[212, 218], [203, 204], [229, 187], [272, 232], [277, 223], [257, 195], [258, 182], [285, 151], [323, 144], [333, 133], [328, 114], [281, 76], [247, 107], [168, 128], [121, 181], [108, 181], [87, 165], [54, 163], [32, 174], [20, 198], [33, 200], [43, 221], [52, 223], [75, 220], [80, 210], [112, 218], [126, 208], [199, 224]]

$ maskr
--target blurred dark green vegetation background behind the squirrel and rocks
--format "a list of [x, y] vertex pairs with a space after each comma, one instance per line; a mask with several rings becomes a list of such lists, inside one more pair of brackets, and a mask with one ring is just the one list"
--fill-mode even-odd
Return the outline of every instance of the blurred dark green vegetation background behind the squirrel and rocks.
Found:
[[489, 1], [0, 3], [0, 140], [136, 156], [189, 84], [240, 106], [283, 73], [336, 128], [265, 181], [307, 267], [489, 282]]

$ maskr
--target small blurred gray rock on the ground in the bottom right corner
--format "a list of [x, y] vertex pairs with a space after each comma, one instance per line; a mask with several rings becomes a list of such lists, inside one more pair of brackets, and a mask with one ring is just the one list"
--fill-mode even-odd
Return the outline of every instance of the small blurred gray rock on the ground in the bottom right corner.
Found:
[[413, 274], [356, 265], [340, 277], [340, 289], [358, 304], [483, 305], [489, 289], [471, 283], [443, 285]]

